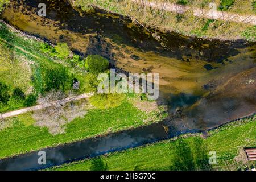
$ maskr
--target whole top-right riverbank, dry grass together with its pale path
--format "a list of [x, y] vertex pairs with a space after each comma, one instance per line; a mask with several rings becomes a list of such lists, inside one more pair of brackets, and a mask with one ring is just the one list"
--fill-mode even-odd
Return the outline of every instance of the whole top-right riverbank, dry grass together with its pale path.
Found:
[[[134, 24], [155, 27], [163, 32], [173, 31], [185, 36], [210, 40], [256, 40], [256, 27], [250, 24], [256, 17], [253, 2], [236, 2], [228, 10], [218, 8], [218, 6], [222, 7], [220, 1], [216, 1], [214, 6], [210, 5], [210, 2], [203, 1], [181, 2], [176, 0], [138, 2], [104, 0], [94, 3], [84, 0], [71, 1], [73, 7], [80, 7], [83, 11], [91, 12], [93, 6], [97, 6], [128, 16]], [[240, 9], [244, 7], [243, 12], [238, 7]]]

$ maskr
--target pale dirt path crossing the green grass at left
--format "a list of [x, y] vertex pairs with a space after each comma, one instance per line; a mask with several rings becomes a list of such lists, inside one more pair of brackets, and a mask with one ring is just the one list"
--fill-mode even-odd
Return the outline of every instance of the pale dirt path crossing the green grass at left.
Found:
[[[67, 103], [67, 102], [70, 102], [70, 101], [77, 101], [77, 100], [81, 100], [83, 98], [89, 98], [93, 96], [92, 93], [85, 93], [85, 94], [81, 94], [79, 96], [73, 96], [73, 97], [67, 97], [64, 99], [63, 101], [63, 104], [64, 103]], [[0, 115], [0, 119], [5, 119], [5, 118], [10, 118], [10, 117], [14, 117], [16, 115], [20, 115], [20, 114], [24, 114], [24, 113], [28, 113], [30, 111], [35, 111], [35, 110], [40, 110], [40, 109], [44, 109], [46, 107], [49, 107], [49, 106], [54, 106], [56, 105], [56, 101], [53, 101], [47, 105], [36, 105], [36, 106], [33, 106], [33, 107], [27, 107], [27, 108], [24, 108], [24, 109], [19, 109], [19, 110], [15, 110], [15, 111], [10, 111], [8, 113], [5, 113], [5, 114], [1, 114]]]

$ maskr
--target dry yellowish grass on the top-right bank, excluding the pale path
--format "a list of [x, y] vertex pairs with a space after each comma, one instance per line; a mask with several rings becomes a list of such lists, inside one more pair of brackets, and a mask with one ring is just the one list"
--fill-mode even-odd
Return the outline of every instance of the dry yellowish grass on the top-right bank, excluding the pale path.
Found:
[[[155, 2], [155, 1], [152, 1]], [[187, 10], [183, 14], [176, 14], [157, 7], [148, 7], [147, 3], [135, 3], [133, 0], [109, 1], [109, 0], [75, 0], [75, 5], [84, 11], [93, 11], [92, 6], [100, 7], [114, 13], [129, 16], [144, 24], [144, 26], [157, 27], [163, 31], [175, 31], [183, 35], [203, 38], [238, 39], [243, 38], [251, 41], [256, 39], [256, 26], [246, 23], [236, 23], [232, 20], [212, 20], [193, 15], [193, 10], [204, 8], [210, 9], [210, 3], [216, 3], [216, 10], [241, 15], [255, 15], [256, 6], [253, 0], [161, 0], [156, 2], [175, 3], [184, 5]], [[214, 7], [215, 9], [215, 7]], [[134, 21], [134, 23], [137, 23]]]

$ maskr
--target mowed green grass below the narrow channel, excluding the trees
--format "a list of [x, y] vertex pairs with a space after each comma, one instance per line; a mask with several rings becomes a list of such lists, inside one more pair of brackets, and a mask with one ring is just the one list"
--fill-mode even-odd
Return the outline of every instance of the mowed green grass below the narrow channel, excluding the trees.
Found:
[[[243, 147], [256, 146], [256, 119], [243, 119], [229, 123], [209, 132], [210, 137], [203, 139], [207, 151], [217, 152], [217, 165], [213, 169], [228, 169], [227, 163], [236, 163], [235, 156], [240, 154]], [[185, 141], [191, 141], [197, 137], [186, 137]], [[181, 138], [172, 141], [166, 140], [144, 147], [138, 147], [123, 152], [114, 152], [108, 156], [102, 156], [104, 163], [110, 170], [168, 170], [174, 162], [177, 152], [176, 143]], [[177, 154], [177, 153], [176, 153]], [[93, 159], [82, 160], [71, 164], [64, 164], [50, 170], [89, 170]]]

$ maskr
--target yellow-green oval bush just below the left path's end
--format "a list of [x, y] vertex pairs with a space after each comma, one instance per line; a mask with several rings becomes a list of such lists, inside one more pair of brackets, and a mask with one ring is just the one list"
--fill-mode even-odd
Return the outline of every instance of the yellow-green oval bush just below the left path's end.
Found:
[[118, 107], [125, 99], [123, 94], [95, 94], [90, 97], [90, 103], [98, 109]]

